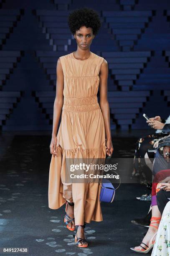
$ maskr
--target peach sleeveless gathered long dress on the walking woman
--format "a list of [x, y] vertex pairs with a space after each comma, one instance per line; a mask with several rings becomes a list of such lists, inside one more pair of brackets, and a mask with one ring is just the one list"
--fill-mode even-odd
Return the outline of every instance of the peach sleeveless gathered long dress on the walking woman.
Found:
[[64, 75], [63, 108], [57, 133], [58, 156], [51, 156], [48, 206], [74, 202], [75, 225], [102, 221], [99, 183], [65, 183], [66, 159], [106, 158], [104, 119], [97, 100], [99, 71], [104, 60], [93, 52], [78, 60], [73, 52], [60, 57]]

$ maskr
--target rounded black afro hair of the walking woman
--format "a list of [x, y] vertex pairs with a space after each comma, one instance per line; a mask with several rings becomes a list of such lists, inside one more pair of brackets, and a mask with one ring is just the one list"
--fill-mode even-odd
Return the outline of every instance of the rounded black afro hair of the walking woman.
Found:
[[68, 25], [73, 35], [76, 33], [76, 30], [79, 30], [82, 26], [86, 26], [86, 28], [92, 28], [93, 34], [96, 36], [101, 27], [101, 22], [96, 11], [89, 8], [81, 8], [69, 14]]

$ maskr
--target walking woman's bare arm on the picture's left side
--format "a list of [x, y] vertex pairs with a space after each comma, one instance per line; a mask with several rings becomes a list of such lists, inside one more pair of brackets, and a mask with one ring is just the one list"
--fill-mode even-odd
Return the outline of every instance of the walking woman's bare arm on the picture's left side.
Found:
[[56, 66], [56, 97], [53, 106], [53, 130], [52, 138], [50, 143], [50, 153], [54, 156], [56, 155], [56, 145], [57, 145], [57, 128], [61, 116], [61, 110], [63, 107], [63, 87], [64, 87], [64, 76], [63, 69], [61, 66], [60, 58], [58, 58]]

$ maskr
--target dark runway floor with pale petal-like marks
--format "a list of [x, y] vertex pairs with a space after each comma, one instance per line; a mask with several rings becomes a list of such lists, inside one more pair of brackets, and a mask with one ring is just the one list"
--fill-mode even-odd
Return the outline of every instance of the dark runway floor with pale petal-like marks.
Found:
[[[114, 156], [119, 149], [134, 154], [137, 137], [114, 138]], [[142, 241], [145, 227], [131, 224], [144, 217], [149, 202], [135, 198], [150, 192], [140, 184], [121, 184], [114, 202], [101, 203], [103, 221], [86, 225], [88, 248], [78, 248], [73, 232], [63, 223], [65, 207], [48, 208], [50, 135], [1, 136], [0, 248], [28, 248], [29, 256], [79, 255], [133, 256], [130, 250]], [[122, 145], [122, 147], [121, 147]], [[127, 146], [124, 146], [127, 145]], [[130, 145], [130, 146], [129, 146]], [[131, 150], [131, 151], [130, 151]], [[148, 253], [148, 255], [150, 255]], [[0, 255], [5, 255], [1, 253]], [[24, 255], [8, 253], [7, 255]]]

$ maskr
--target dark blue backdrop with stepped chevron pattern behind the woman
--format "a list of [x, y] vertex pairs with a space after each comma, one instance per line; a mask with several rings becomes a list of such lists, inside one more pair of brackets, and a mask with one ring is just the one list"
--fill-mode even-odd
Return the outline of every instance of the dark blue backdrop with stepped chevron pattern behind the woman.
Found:
[[67, 15], [81, 7], [101, 18], [90, 50], [109, 65], [111, 128], [170, 114], [170, 1], [0, 0], [2, 131], [52, 131], [56, 62], [76, 50]]

